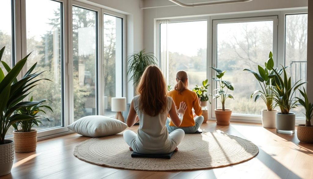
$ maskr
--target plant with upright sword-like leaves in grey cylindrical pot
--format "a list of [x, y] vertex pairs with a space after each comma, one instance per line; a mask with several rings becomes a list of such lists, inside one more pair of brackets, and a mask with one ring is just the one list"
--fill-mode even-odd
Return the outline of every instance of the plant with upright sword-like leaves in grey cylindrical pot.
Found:
[[269, 75], [269, 78], [275, 79], [275, 85], [271, 88], [274, 90], [275, 105], [280, 108], [280, 113], [276, 114], [276, 131], [283, 134], [293, 134], [295, 133], [295, 113], [290, 113], [290, 110], [297, 107], [296, 103], [298, 102], [297, 98], [294, 97], [294, 93], [306, 82], [300, 82], [301, 80], [299, 80], [291, 86], [291, 77], [287, 77], [283, 66], [284, 79], [277, 70], [271, 69], [275, 73], [274, 75]]

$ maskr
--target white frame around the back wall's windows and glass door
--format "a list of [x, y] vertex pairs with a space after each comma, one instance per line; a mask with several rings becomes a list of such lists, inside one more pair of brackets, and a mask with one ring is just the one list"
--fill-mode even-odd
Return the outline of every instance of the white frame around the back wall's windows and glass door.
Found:
[[[288, 14], [299, 14], [299, 13], [307, 13], [307, 8], [290, 8], [283, 10], [271, 10], [271, 11], [258, 11], [258, 12], [236, 12], [236, 13], [224, 13], [224, 14], [206, 14], [206, 15], [197, 15], [197, 16], [189, 16], [189, 17], [173, 17], [173, 18], [155, 18], [154, 19], [154, 53], [157, 55], [157, 58], [160, 59], [160, 22], [163, 20], [167, 20], [169, 23], [171, 22], [187, 22], [187, 21], [195, 21], [195, 20], [203, 20], [208, 19], [208, 36], [207, 36], [207, 67], [208, 66], [216, 66], [216, 61], [214, 61], [213, 56], [213, 21], [218, 22], [219, 20], [228, 20], [228, 19], [237, 19], [237, 18], [264, 18], [269, 16], [277, 17], [277, 26], [276, 26], [276, 34], [273, 31], [276, 43], [273, 43], [273, 53], [276, 59], [277, 64], [285, 63], [285, 15]], [[274, 24], [273, 24], [274, 25]], [[275, 25], [274, 25], [275, 26]], [[216, 38], [216, 37], [215, 37]], [[274, 38], [273, 38], [274, 41]], [[274, 50], [276, 48], [276, 50]], [[275, 52], [276, 51], [276, 52]], [[216, 55], [215, 55], [216, 57]], [[215, 58], [216, 59], [216, 58]], [[215, 64], [214, 64], [215, 62]], [[161, 62], [159, 62], [161, 64]], [[161, 66], [161, 65], [160, 65]], [[163, 71], [163, 69], [161, 69]], [[207, 78], [211, 79], [213, 77], [213, 71], [207, 68]], [[307, 81], [313, 81], [313, 76], [307, 75]], [[212, 93], [212, 90], [215, 89], [212, 82], [210, 83], [208, 93]], [[248, 94], [247, 94], [248, 95]], [[215, 102], [214, 102], [215, 103]], [[208, 113], [210, 120], [215, 120], [214, 109], [215, 106], [208, 106]], [[250, 115], [232, 115], [231, 121], [237, 122], [249, 122], [249, 123], [261, 123], [261, 116], [250, 116]], [[296, 124], [303, 124], [304, 119], [296, 119]]]

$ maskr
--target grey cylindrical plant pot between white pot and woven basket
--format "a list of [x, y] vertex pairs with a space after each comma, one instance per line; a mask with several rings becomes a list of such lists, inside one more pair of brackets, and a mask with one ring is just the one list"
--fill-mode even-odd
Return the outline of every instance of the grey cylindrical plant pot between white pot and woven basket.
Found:
[[276, 132], [282, 134], [295, 133], [295, 113], [276, 114]]

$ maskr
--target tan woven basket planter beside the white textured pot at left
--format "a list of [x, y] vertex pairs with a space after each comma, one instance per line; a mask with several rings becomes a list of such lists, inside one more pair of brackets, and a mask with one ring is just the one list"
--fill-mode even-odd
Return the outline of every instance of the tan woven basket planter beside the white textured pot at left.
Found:
[[13, 131], [15, 143], [15, 152], [26, 153], [36, 150], [37, 147], [37, 130], [32, 129], [30, 132]]

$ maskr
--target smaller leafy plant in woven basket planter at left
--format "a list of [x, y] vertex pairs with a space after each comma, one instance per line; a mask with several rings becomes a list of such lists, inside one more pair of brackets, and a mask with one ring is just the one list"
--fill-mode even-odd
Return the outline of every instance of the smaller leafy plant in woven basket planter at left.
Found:
[[[33, 102], [33, 97], [31, 97], [29, 101]], [[29, 115], [33, 117], [32, 119], [18, 121], [15, 124], [12, 124], [12, 126], [15, 129], [15, 131], [13, 131], [15, 152], [25, 153], [25, 152], [32, 152], [36, 150], [37, 130], [32, 129], [32, 128], [34, 125], [39, 126], [39, 124], [42, 124], [40, 120], [43, 118], [50, 121], [48, 118], [42, 115], [39, 115], [40, 112], [46, 114], [46, 112], [43, 110], [44, 108], [53, 112], [49, 106], [44, 105], [46, 101], [49, 101], [49, 100], [42, 99], [38, 101], [38, 104], [34, 103], [31, 106], [22, 107], [17, 112], [15, 112], [16, 114], [25, 114], [25, 115]], [[20, 127], [20, 129], [18, 129], [18, 127]]]

